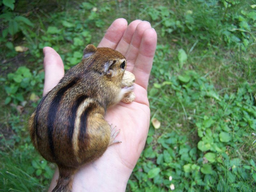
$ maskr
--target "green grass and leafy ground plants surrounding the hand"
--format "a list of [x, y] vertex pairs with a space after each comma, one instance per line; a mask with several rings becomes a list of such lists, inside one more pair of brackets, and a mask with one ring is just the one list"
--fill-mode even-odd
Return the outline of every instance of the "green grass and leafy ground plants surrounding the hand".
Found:
[[[168, 191], [171, 184], [174, 191], [255, 191], [253, 1], [42, 1], [23, 7], [16, 2], [14, 12], [33, 27], [0, 39], [0, 191], [44, 191], [53, 174], [54, 165], [37, 154], [26, 131], [42, 94], [42, 48], [52, 46], [68, 69], [118, 17], [148, 20], [158, 34], [148, 98], [151, 119], [161, 126], [150, 125], [126, 191]], [[29, 50], [17, 53], [17, 45]]]

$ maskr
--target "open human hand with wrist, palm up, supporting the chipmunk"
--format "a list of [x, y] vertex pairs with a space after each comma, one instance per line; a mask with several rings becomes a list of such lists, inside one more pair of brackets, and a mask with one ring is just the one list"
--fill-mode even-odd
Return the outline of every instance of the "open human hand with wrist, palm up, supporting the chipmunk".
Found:
[[[85, 164], [76, 172], [72, 191], [125, 191], [127, 181], [142, 152], [149, 128], [150, 109], [147, 98], [148, 78], [156, 50], [156, 31], [147, 21], [134, 20], [127, 27], [125, 19], [115, 20], [98, 47], [110, 47], [127, 60], [127, 70], [135, 75], [135, 100], [120, 102], [109, 108], [105, 119], [120, 129], [116, 140], [99, 159]], [[63, 62], [57, 52], [44, 48], [44, 94], [64, 76]], [[52, 179], [51, 191], [58, 179]]]

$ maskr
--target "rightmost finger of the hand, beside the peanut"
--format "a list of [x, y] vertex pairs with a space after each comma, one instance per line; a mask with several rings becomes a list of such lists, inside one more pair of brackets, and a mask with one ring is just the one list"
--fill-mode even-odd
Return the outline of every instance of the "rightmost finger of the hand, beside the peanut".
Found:
[[135, 83], [147, 89], [148, 78], [156, 51], [157, 34], [155, 29], [144, 31], [140, 43], [139, 54], [135, 61], [132, 73], [135, 75]]

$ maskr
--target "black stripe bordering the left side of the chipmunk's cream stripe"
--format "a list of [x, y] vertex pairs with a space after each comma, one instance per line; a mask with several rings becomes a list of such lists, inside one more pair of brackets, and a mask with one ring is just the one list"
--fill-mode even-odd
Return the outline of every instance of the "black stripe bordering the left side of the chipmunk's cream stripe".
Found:
[[76, 99], [75, 104], [73, 107], [70, 109], [70, 116], [68, 117], [68, 122], [69, 122], [69, 128], [68, 128], [68, 139], [70, 143], [72, 143], [72, 137], [74, 133], [74, 128], [75, 128], [75, 119], [76, 119], [76, 111], [80, 104], [87, 99], [87, 95], [81, 95]]

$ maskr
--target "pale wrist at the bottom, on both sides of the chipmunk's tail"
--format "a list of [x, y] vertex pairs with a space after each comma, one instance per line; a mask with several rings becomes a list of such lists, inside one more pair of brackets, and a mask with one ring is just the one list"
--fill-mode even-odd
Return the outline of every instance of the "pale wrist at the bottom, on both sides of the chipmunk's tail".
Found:
[[[72, 192], [125, 191], [132, 169], [124, 166], [120, 158], [113, 157], [115, 155], [106, 151], [96, 161], [80, 167], [73, 178]], [[56, 169], [49, 191], [55, 187], [58, 176]]]

